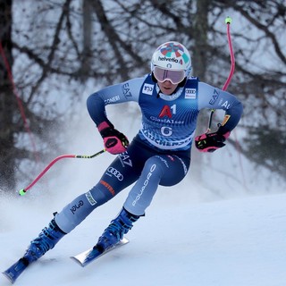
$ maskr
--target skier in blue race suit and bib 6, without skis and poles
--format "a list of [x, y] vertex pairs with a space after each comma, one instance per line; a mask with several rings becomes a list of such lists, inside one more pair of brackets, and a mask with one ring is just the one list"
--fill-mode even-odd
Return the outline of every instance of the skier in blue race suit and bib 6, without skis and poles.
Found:
[[[225, 145], [225, 139], [240, 121], [242, 105], [230, 93], [190, 77], [190, 71], [187, 48], [178, 42], [167, 42], [152, 55], [149, 74], [88, 97], [88, 113], [103, 138], [105, 150], [118, 156], [95, 187], [63, 207], [30, 242], [20, 259], [22, 264], [29, 265], [42, 257], [97, 206], [136, 182], [122, 210], [97, 241], [97, 248], [104, 251], [118, 243], [145, 215], [158, 185], [173, 186], [186, 176], [198, 113], [203, 108], [223, 109], [225, 116], [218, 130], [195, 139], [196, 147], [213, 152]], [[141, 128], [130, 144], [105, 113], [105, 105], [129, 101], [137, 102], [142, 113]]]

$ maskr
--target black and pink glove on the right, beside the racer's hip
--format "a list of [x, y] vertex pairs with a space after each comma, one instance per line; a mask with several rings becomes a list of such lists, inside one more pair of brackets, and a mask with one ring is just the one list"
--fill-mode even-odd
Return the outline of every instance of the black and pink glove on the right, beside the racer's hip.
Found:
[[205, 133], [195, 138], [195, 144], [199, 152], [214, 152], [218, 148], [225, 146], [225, 139], [230, 136], [231, 132], [220, 134], [218, 132]]

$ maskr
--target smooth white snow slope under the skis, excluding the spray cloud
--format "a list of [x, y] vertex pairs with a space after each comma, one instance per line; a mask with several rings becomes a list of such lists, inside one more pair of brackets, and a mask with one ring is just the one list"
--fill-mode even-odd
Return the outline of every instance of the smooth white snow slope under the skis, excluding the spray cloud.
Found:
[[[162, 199], [164, 200], [164, 199]], [[156, 199], [128, 234], [130, 243], [85, 268], [70, 257], [89, 248], [121, 198], [96, 210], [16, 282], [30, 285], [286, 285], [286, 195], [178, 206]], [[44, 208], [44, 210], [43, 210]], [[21, 257], [49, 220], [47, 206], [2, 200], [0, 268]], [[10, 282], [0, 277], [0, 285]]]

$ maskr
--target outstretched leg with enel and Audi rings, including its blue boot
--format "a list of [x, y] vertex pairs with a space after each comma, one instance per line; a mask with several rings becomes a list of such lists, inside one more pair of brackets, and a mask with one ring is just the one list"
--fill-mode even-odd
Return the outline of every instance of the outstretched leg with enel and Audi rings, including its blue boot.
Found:
[[30, 263], [42, 257], [97, 206], [114, 198], [122, 189], [136, 181], [139, 172], [133, 171], [131, 166], [131, 164], [126, 164], [122, 167], [122, 155], [118, 156], [93, 189], [75, 198], [70, 204], [63, 207], [60, 213], [55, 214], [55, 218], [38, 234], [38, 238], [30, 242], [24, 255], [25, 260]]

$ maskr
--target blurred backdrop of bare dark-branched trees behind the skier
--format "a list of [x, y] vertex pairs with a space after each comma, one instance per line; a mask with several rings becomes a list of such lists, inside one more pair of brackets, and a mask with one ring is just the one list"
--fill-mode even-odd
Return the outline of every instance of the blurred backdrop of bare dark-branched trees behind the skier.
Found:
[[[177, 40], [187, 46], [193, 74], [222, 87], [230, 68], [224, 19], [232, 15], [236, 71], [229, 89], [243, 100], [245, 113], [240, 128], [248, 135], [248, 140], [240, 142], [241, 151], [257, 164], [285, 174], [286, 160], [278, 160], [285, 156], [283, 0], [32, 3], [0, 1], [0, 35], [40, 158], [46, 153], [50, 153], [49, 158], [58, 154], [64, 140], [60, 127], [67, 116], [74, 116], [86, 80], [101, 87], [142, 76], [149, 72], [156, 46], [165, 41]], [[27, 177], [21, 165], [27, 161], [33, 165], [35, 155], [3, 58], [0, 84], [1, 188], [5, 181], [13, 189], [15, 170], [17, 178], [23, 179], [21, 173]], [[56, 104], [59, 100], [64, 101], [64, 110]], [[202, 122], [207, 123], [206, 117]], [[265, 152], [264, 147], [271, 152]]]

